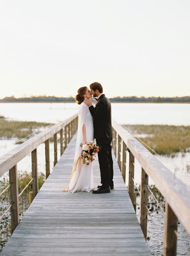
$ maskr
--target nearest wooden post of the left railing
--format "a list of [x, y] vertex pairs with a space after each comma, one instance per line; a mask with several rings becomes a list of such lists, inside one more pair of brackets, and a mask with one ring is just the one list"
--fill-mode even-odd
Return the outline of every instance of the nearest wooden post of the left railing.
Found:
[[9, 170], [9, 184], [10, 184], [10, 208], [11, 212], [11, 233], [16, 229], [19, 223], [19, 205], [18, 205], [18, 178], [17, 165]]

